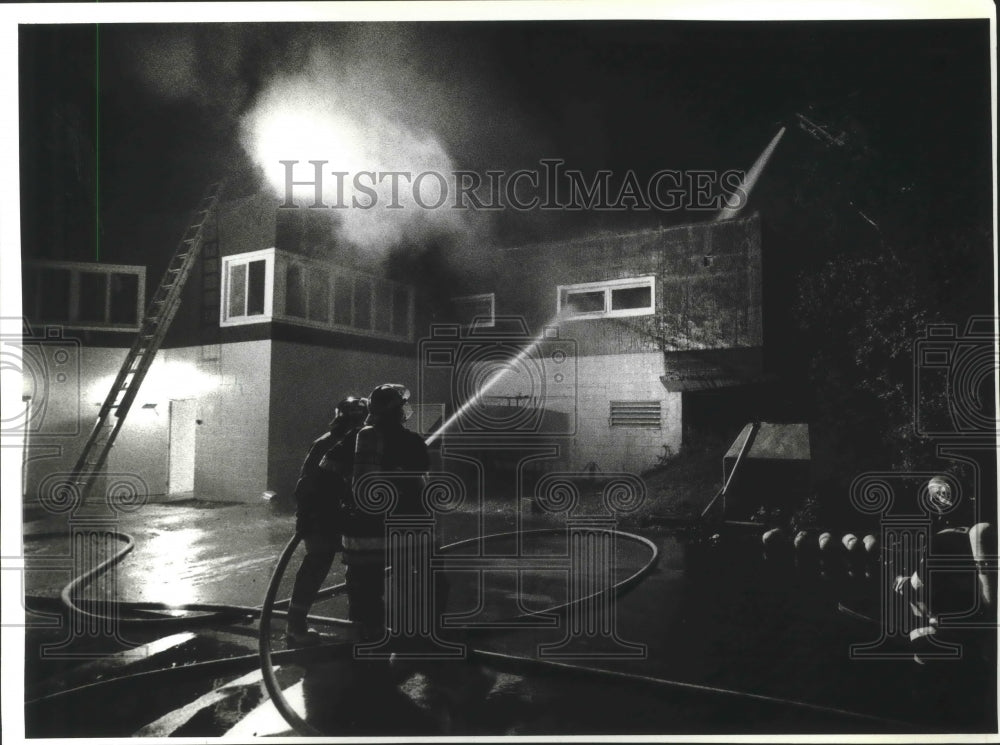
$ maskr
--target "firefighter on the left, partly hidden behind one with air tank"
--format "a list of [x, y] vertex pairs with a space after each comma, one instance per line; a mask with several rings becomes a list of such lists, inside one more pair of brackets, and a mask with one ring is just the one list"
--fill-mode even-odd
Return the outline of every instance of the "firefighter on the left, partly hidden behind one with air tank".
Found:
[[295, 575], [285, 640], [291, 646], [319, 644], [324, 636], [310, 629], [306, 616], [341, 549], [342, 502], [350, 491], [354, 435], [364, 425], [368, 401], [348, 396], [337, 404], [329, 431], [315, 440], [295, 485], [295, 532], [306, 555]]

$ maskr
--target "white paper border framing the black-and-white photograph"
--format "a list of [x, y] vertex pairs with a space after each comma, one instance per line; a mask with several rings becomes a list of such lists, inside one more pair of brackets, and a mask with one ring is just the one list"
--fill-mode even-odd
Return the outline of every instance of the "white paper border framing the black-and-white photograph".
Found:
[[[561, 2], [385, 2], [385, 3], [115, 3], [115, 4], [39, 4], [0, 6], [0, 317], [2, 333], [20, 333], [21, 315], [20, 222], [17, 209], [20, 194], [18, 172], [18, 23], [116, 23], [116, 22], [229, 22], [238, 17], [241, 21], [430, 21], [430, 20], [889, 20], [889, 19], [958, 19], [984, 18], [990, 20], [991, 90], [993, 93], [993, 163], [996, 167], [996, 9], [989, 0], [764, 0], [753, 3], [744, 0], [713, 0], [711, 3], [696, 0], [671, 0], [669, 2], [605, 3], [593, 0], [562, 0]], [[993, 236], [994, 236], [994, 315], [1000, 315], [997, 305], [997, 186], [996, 172], [993, 179]], [[20, 406], [19, 381], [7, 376], [3, 379], [3, 417], [16, 414]], [[997, 401], [1000, 410], [1000, 397]], [[17, 448], [0, 448], [0, 474], [4, 494], [20, 494], [19, 471], [21, 453]], [[16, 571], [23, 565], [20, 559], [21, 522], [20, 510], [4, 510], [0, 528], [0, 554], [4, 557], [3, 619], [23, 618], [19, 602], [20, 575]], [[18, 562], [22, 562], [19, 564]], [[24, 739], [23, 727], [23, 629], [17, 625], [5, 626], [3, 634], [3, 697], [2, 719], [5, 741], [20, 742]], [[438, 738], [380, 738], [382, 742], [429, 742]], [[475, 738], [462, 738], [475, 739]], [[497, 739], [497, 738], [490, 738]], [[593, 737], [564, 736], [508, 738], [521, 742], [590, 742]], [[802, 742], [796, 735], [720, 736], [640, 736], [614, 738], [631, 742]], [[996, 742], [996, 736], [919, 735], [913, 737], [812, 735], [817, 743], [839, 742], [900, 742], [928, 743], [979, 741]], [[277, 738], [276, 741], [287, 741]], [[106, 740], [105, 742], [111, 742]], [[132, 742], [121, 740], [121, 742]], [[198, 742], [202, 739], [181, 738], [172, 742]]]

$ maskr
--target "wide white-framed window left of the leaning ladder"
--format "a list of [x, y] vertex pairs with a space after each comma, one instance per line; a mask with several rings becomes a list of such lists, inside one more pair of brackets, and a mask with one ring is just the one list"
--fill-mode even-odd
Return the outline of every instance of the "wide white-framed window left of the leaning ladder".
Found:
[[34, 323], [136, 331], [146, 299], [146, 268], [85, 262], [26, 262], [24, 309]]

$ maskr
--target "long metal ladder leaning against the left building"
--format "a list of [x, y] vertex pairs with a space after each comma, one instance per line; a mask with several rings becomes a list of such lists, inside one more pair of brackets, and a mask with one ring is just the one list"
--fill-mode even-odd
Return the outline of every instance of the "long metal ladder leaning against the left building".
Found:
[[101, 405], [97, 422], [73, 467], [71, 483], [79, 495], [78, 504], [86, 502], [88, 491], [107, 462], [108, 453], [125, 423], [125, 417], [128, 416], [129, 409], [135, 401], [139, 386], [149, 372], [163, 338], [174, 320], [184, 285], [191, 274], [191, 269], [198, 261], [205, 223], [219, 202], [223, 186], [222, 181], [209, 186], [198, 204], [191, 224], [177, 244], [177, 249], [167, 265], [167, 271], [160, 280], [160, 286], [156, 288], [146, 308], [146, 314], [139, 325], [139, 335], [132, 343], [132, 348]]

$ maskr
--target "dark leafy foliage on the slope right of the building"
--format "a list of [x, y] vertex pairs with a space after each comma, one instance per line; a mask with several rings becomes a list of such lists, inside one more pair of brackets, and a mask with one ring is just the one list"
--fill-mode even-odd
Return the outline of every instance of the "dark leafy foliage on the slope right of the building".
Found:
[[[795, 310], [809, 341], [818, 487], [836, 492], [836, 502], [846, 501], [850, 480], [866, 470], [943, 467], [936, 441], [914, 426], [914, 345], [928, 324], [961, 330], [981, 312], [991, 294], [982, 266], [989, 240], [974, 228], [910, 239], [902, 257], [883, 245], [800, 276]], [[922, 417], [947, 419], [947, 386], [920, 393]]]

